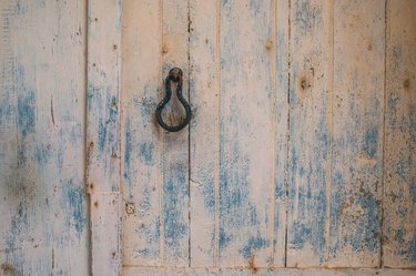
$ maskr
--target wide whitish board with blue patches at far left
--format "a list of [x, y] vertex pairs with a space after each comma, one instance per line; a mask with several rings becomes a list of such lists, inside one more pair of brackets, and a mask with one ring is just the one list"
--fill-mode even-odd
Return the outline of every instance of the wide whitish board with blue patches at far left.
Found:
[[0, 275], [88, 275], [84, 1], [0, 2]]

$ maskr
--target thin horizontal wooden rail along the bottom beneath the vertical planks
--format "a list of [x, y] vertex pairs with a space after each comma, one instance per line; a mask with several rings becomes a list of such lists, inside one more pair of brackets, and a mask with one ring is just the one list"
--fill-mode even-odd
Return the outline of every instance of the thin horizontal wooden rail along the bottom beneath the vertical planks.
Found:
[[124, 276], [149, 275], [149, 276], [415, 276], [410, 269], [287, 269], [287, 268], [145, 268], [125, 267]]

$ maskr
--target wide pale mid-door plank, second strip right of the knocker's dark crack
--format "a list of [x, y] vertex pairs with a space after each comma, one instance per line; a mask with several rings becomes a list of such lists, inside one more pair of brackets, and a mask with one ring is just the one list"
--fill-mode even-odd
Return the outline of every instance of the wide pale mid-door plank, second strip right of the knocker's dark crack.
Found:
[[273, 16], [271, 1], [221, 2], [220, 266], [273, 264]]

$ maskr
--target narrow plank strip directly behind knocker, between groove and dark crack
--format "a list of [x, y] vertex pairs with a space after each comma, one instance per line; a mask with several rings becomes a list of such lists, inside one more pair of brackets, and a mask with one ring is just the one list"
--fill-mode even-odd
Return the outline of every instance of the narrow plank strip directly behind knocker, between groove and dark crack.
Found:
[[[189, 99], [189, 3], [187, 1], [163, 0], [163, 78], [174, 68], [183, 70], [183, 96]], [[161, 80], [162, 82], [162, 80]], [[164, 91], [163, 91], [164, 96]], [[192, 102], [191, 102], [192, 104]], [[171, 125], [180, 122], [184, 111], [172, 96], [164, 116]], [[166, 114], [170, 114], [169, 116]], [[183, 114], [182, 114], [183, 116]], [[166, 266], [186, 267], [189, 256], [189, 126], [177, 133], [165, 133], [163, 139], [163, 197], [162, 197], [162, 259]]]

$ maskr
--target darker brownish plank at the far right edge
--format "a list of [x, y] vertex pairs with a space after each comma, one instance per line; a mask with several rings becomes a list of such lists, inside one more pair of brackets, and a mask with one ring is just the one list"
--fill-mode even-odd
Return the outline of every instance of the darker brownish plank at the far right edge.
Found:
[[416, 267], [416, 2], [387, 1], [383, 263]]

